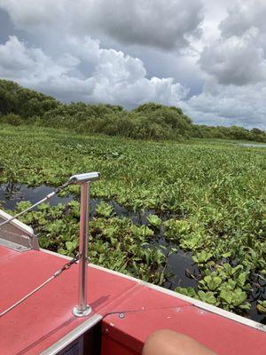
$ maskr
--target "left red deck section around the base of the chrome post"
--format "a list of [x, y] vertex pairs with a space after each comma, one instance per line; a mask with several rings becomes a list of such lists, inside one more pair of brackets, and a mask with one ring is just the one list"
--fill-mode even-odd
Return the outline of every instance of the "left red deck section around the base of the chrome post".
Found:
[[[30, 250], [18, 253], [0, 247], [0, 312], [56, 272], [66, 260]], [[38, 354], [77, 327], [86, 318], [72, 314], [77, 303], [77, 265], [0, 318], [0, 354]], [[90, 268], [89, 300], [93, 314], [119, 302], [136, 282]], [[90, 318], [93, 316], [90, 314]]]

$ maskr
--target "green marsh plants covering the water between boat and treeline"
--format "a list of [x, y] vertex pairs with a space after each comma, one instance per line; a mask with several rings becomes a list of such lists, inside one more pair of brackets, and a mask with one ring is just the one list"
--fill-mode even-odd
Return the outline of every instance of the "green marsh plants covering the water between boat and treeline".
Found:
[[[182, 249], [192, 253], [199, 272], [190, 270], [195, 288], [184, 288], [181, 280], [177, 291], [241, 314], [254, 300], [258, 312], [266, 312], [263, 148], [221, 140], [86, 137], [3, 124], [0, 152], [0, 184], [56, 186], [77, 172], [101, 172], [102, 179], [91, 186], [100, 201], [90, 224], [93, 263], [165, 285], [167, 256]], [[78, 186], [66, 193], [78, 195]], [[119, 216], [114, 201], [146, 212], [147, 223]], [[20, 202], [17, 210], [27, 205]], [[76, 200], [52, 208], [43, 204], [21, 219], [40, 233], [42, 247], [72, 256], [78, 218]]]

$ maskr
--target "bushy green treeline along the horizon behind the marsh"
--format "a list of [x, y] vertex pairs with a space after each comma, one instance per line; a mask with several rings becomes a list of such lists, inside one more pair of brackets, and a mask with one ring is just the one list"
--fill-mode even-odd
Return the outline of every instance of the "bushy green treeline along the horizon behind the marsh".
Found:
[[266, 142], [263, 130], [196, 125], [175, 106], [147, 103], [132, 111], [122, 106], [62, 102], [0, 80], [0, 123], [67, 128], [140, 139], [230, 138]]

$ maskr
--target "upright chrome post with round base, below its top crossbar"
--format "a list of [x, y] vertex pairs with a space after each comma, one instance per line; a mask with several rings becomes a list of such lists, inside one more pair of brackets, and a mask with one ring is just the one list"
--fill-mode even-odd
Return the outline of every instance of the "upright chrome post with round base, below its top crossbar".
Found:
[[85, 317], [91, 312], [90, 305], [87, 304], [89, 203], [90, 203], [90, 182], [83, 182], [81, 184], [78, 305], [75, 306], [73, 310], [73, 313], [76, 317]]

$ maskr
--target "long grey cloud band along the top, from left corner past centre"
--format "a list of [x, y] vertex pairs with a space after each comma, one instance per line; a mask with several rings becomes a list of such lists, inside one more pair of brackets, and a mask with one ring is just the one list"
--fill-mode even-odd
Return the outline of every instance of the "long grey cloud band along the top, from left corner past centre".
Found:
[[[51, 25], [79, 36], [107, 36], [119, 43], [180, 49], [200, 36], [202, 0], [0, 0], [18, 28]], [[52, 11], [51, 11], [52, 9]]]

